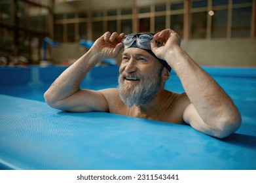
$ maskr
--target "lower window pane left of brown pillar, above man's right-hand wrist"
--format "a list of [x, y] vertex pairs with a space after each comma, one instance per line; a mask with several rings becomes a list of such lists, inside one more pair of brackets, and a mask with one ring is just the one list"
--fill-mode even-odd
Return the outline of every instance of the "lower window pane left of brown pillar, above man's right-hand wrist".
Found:
[[183, 38], [183, 14], [174, 14], [171, 16], [171, 29]]

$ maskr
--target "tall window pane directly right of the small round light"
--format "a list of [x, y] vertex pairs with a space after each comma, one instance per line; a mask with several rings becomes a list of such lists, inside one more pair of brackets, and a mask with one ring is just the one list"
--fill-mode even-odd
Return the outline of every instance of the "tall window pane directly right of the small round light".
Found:
[[228, 10], [215, 10], [211, 21], [211, 37], [227, 37]]

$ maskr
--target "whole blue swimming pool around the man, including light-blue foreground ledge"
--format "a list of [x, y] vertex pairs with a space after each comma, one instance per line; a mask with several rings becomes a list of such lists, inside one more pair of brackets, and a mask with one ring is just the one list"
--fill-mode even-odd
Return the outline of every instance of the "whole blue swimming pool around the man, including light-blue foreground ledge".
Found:
[[[221, 141], [184, 125], [52, 109], [43, 93], [66, 68], [0, 67], [0, 169], [256, 169], [256, 68], [203, 67], [242, 114]], [[117, 87], [118, 75], [95, 67], [81, 88]], [[173, 71], [166, 89], [184, 91]]]

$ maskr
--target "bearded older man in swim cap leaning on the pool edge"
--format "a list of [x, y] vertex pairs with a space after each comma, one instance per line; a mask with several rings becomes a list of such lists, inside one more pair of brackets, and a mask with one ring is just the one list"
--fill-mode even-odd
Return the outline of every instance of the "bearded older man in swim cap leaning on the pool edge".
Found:
[[[189, 124], [213, 137], [227, 137], [240, 127], [240, 113], [227, 93], [180, 47], [180, 42], [172, 29], [155, 35], [107, 32], [54, 81], [45, 92], [45, 100], [51, 107], [69, 112], [101, 111]], [[122, 48], [118, 88], [79, 88], [90, 69], [103, 59], [116, 58]], [[185, 93], [164, 89], [171, 68]]]

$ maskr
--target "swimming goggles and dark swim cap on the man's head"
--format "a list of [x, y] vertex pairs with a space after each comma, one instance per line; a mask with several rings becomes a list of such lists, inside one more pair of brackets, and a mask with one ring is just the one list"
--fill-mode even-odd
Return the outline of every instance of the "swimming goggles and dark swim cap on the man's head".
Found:
[[168, 65], [165, 60], [156, 57], [156, 55], [151, 50], [152, 41], [155, 41], [158, 45], [160, 44], [160, 42], [154, 39], [154, 35], [155, 34], [153, 33], [135, 33], [126, 35], [126, 37], [124, 37], [122, 40], [122, 43], [124, 43], [124, 50], [130, 47], [141, 48], [158, 59], [158, 61], [160, 61], [160, 63], [162, 63], [162, 65], [164, 65], [164, 67], [166, 67], [166, 69], [171, 72], [172, 67], [170, 67], [170, 65]]

